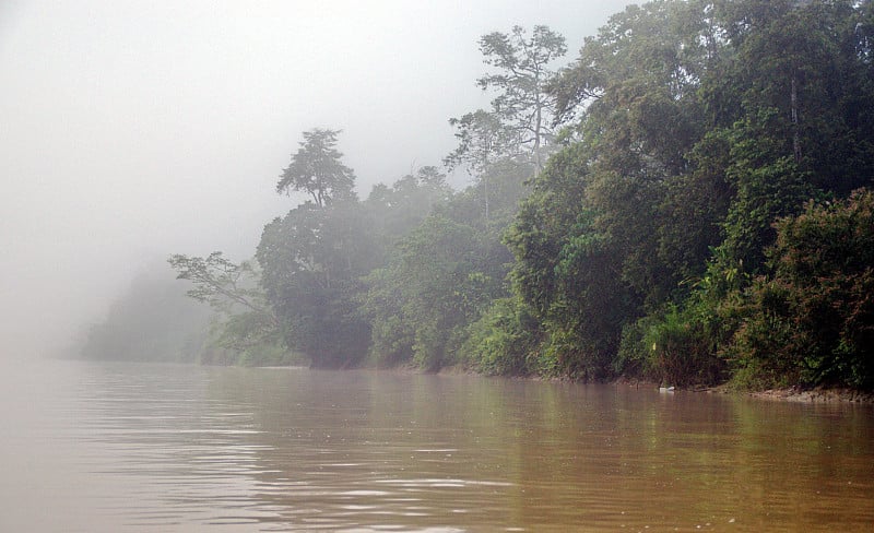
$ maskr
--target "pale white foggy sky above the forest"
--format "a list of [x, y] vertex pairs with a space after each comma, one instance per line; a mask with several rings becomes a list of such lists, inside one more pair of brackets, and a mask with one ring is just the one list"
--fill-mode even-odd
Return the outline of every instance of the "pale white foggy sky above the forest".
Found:
[[0, 357], [54, 350], [174, 252], [253, 253], [314, 127], [364, 198], [437, 165], [489, 100], [485, 33], [576, 58], [627, 0], [0, 0]]

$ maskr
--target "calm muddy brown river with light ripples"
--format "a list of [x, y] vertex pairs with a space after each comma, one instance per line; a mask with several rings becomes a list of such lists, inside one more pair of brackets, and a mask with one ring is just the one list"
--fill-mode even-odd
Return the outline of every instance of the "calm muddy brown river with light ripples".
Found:
[[4, 363], [0, 531], [871, 531], [874, 411], [376, 371]]

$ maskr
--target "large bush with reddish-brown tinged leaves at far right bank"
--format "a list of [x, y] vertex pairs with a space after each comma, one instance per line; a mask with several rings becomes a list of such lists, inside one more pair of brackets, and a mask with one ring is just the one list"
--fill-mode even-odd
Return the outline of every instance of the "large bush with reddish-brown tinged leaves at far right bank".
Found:
[[773, 274], [746, 291], [730, 353], [748, 387], [874, 387], [874, 192], [775, 224]]

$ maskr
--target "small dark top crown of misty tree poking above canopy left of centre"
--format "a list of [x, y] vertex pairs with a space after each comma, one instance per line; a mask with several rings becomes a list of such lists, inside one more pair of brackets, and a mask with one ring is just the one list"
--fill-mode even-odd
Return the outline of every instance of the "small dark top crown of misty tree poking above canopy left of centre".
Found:
[[335, 147], [338, 134], [340, 130], [321, 128], [305, 131], [300, 147], [280, 176], [276, 192], [306, 192], [319, 208], [354, 198], [355, 173], [341, 162], [343, 154]]

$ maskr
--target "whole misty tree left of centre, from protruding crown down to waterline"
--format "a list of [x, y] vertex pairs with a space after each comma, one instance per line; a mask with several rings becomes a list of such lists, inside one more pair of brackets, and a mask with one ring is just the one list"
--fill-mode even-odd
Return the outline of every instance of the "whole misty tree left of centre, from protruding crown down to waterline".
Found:
[[304, 191], [312, 201], [264, 226], [256, 254], [286, 345], [318, 367], [354, 365], [366, 354], [370, 332], [355, 298], [379, 256], [355, 173], [335, 147], [339, 133], [304, 132], [276, 191]]

